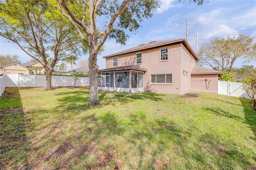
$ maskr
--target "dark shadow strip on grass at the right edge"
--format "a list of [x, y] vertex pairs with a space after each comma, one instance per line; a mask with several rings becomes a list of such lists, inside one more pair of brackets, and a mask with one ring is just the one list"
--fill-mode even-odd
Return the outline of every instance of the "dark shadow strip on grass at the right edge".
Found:
[[244, 107], [244, 118], [246, 119], [245, 123], [250, 126], [252, 132], [254, 133], [254, 140], [256, 141], [256, 111], [251, 109], [252, 103], [249, 99], [239, 98], [243, 107]]

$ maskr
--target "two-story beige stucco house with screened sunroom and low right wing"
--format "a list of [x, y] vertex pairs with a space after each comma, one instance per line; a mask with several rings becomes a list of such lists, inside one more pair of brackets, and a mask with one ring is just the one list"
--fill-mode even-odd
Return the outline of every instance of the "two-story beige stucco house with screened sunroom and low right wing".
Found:
[[185, 39], [145, 43], [107, 55], [98, 71], [98, 89], [128, 93], [218, 93], [221, 72], [196, 65], [198, 57]]

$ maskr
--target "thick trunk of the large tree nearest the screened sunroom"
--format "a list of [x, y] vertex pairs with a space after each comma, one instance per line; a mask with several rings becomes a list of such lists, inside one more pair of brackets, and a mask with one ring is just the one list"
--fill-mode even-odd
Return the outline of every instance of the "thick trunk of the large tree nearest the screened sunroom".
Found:
[[90, 83], [90, 91], [89, 91], [89, 106], [95, 106], [100, 104], [98, 97], [98, 65], [97, 65], [97, 53], [94, 52], [93, 49], [89, 49], [90, 57], [89, 57], [89, 83]]

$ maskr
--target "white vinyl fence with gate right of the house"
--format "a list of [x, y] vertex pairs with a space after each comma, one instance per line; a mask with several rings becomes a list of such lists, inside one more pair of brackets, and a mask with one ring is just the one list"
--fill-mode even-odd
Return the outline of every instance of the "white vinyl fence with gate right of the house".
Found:
[[218, 81], [218, 94], [251, 99], [246, 91], [242, 89], [242, 85], [243, 83]]

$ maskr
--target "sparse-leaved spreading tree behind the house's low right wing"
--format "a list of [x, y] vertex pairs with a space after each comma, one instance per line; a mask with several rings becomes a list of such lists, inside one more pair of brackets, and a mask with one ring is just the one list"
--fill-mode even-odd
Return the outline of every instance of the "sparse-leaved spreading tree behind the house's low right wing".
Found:
[[256, 59], [256, 43], [253, 37], [244, 34], [239, 34], [237, 38], [216, 38], [210, 40], [210, 44], [200, 47], [198, 57], [199, 64], [230, 73], [237, 59], [245, 62]]

